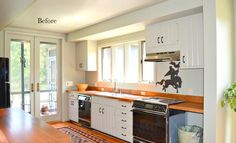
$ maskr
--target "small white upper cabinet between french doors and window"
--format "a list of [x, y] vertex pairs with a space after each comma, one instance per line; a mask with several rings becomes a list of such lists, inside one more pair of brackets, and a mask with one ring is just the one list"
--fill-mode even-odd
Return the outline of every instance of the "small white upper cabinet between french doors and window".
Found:
[[82, 71], [97, 71], [96, 41], [81, 41], [77, 43], [76, 67]]

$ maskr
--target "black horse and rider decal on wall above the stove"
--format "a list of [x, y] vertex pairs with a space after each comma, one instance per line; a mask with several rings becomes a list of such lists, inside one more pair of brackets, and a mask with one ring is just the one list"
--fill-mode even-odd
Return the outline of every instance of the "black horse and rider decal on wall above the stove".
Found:
[[170, 76], [170, 79], [162, 79], [160, 82], [156, 82], [157, 84], [162, 85], [162, 91], [166, 92], [166, 89], [171, 85], [174, 89], [176, 89], [176, 93], [179, 93], [179, 88], [182, 86], [182, 79], [178, 75], [180, 62], [176, 64], [175, 62], [170, 62], [169, 71], [165, 74], [166, 76]]

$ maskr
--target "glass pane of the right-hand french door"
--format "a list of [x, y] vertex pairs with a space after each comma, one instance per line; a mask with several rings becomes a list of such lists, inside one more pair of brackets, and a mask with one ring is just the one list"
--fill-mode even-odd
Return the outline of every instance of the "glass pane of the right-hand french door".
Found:
[[40, 115], [57, 114], [57, 45], [40, 42]]

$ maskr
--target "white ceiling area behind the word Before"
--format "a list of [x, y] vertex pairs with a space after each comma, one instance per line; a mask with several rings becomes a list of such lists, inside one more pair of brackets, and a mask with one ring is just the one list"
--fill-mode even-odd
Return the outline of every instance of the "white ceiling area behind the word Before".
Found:
[[[10, 26], [69, 33], [160, 1], [162, 0], [37, 0]], [[57, 23], [38, 24], [38, 18], [55, 19]]]

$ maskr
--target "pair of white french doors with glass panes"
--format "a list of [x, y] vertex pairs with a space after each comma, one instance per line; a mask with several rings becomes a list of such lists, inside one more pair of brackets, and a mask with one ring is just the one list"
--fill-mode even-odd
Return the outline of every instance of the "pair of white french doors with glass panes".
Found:
[[60, 40], [8, 34], [11, 108], [60, 120]]

